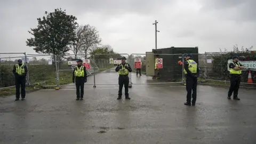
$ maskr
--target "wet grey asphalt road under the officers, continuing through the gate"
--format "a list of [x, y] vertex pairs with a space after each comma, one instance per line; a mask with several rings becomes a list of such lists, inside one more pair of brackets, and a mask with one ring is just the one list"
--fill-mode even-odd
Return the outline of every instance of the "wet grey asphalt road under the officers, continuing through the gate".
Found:
[[228, 87], [198, 86], [197, 105], [188, 107], [184, 86], [134, 84], [132, 99], [118, 101], [118, 85], [110, 85], [117, 78], [96, 75], [96, 84], [109, 85], [86, 85], [83, 101], [73, 85], [29, 93], [26, 101], [0, 98], [0, 143], [256, 143], [256, 90], [241, 89], [234, 101]]

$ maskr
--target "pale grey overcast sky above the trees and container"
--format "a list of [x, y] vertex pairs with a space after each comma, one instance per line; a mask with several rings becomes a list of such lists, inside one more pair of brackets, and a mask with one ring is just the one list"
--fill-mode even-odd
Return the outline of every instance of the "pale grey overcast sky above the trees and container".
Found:
[[199, 52], [256, 46], [255, 0], [0, 0], [0, 52], [35, 53], [26, 46], [44, 12], [66, 9], [79, 25], [98, 28], [102, 44], [118, 53], [195, 47]]

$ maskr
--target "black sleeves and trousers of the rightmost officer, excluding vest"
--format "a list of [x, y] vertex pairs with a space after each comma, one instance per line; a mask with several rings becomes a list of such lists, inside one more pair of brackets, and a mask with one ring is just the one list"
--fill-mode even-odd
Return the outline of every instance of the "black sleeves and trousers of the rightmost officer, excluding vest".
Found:
[[[234, 62], [234, 61], [233, 61]], [[236, 65], [238, 65], [239, 62], [234, 62]], [[234, 63], [229, 63], [229, 68], [235, 68], [236, 66], [234, 65]], [[241, 63], [239, 63], [239, 66], [243, 66], [241, 65]], [[237, 95], [238, 95], [238, 90], [239, 90], [239, 86], [240, 86], [240, 82], [241, 82], [241, 75], [239, 74], [230, 74], [230, 87], [229, 87], [229, 91], [228, 91], [228, 99], [230, 99], [232, 93], [234, 92], [233, 95], [233, 99], [234, 100], [240, 100]]]

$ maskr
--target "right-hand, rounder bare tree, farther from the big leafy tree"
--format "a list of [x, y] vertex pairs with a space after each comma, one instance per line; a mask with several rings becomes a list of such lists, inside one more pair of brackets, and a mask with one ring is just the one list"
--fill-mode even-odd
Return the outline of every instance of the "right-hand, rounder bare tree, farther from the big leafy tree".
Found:
[[101, 42], [99, 31], [89, 24], [83, 27], [83, 46], [79, 49], [79, 53], [85, 54], [85, 59], [87, 59], [87, 54]]

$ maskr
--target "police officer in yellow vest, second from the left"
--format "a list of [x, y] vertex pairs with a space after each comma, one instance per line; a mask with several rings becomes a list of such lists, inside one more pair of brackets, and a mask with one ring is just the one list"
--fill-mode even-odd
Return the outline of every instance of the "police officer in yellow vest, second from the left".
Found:
[[79, 59], [73, 71], [73, 83], [76, 83], [76, 100], [84, 99], [84, 83], [87, 82], [86, 68], [82, 63], [83, 61]]

